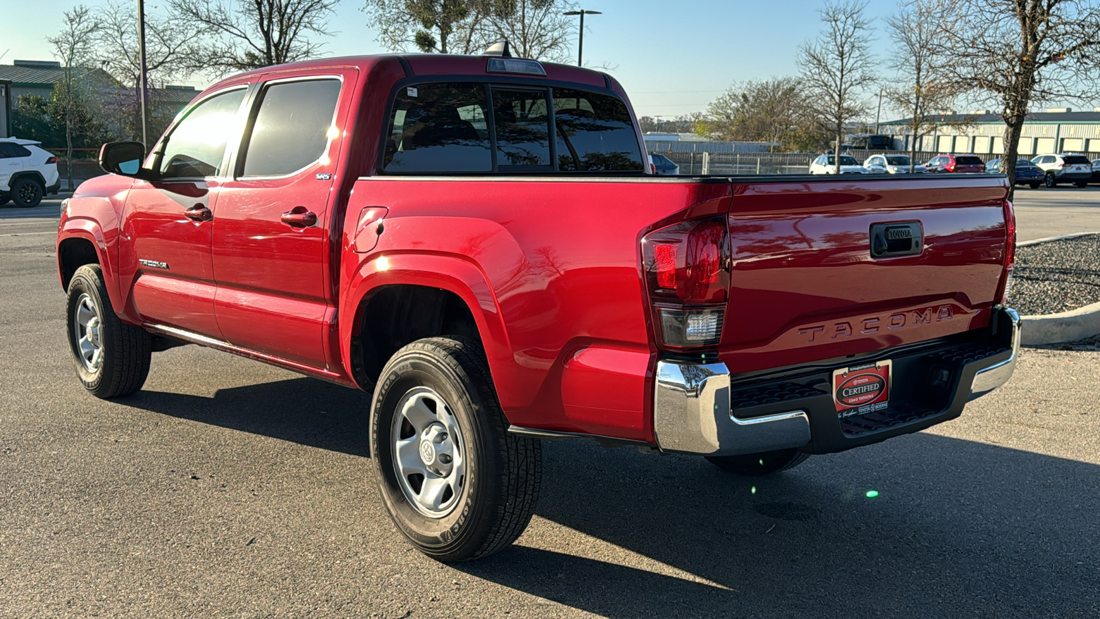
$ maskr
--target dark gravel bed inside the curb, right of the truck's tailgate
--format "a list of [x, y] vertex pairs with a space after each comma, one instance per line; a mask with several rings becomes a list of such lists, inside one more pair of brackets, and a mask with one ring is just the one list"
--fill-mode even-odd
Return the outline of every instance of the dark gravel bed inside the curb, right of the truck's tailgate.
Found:
[[1016, 249], [1009, 304], [1023, 315], [1100, 302], [1100, 235]]

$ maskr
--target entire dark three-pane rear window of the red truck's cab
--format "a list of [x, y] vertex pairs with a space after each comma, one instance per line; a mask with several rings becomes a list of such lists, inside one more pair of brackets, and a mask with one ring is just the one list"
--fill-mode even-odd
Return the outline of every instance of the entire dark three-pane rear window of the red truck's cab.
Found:
[[393, 98], [382, 171], [642, 173], [630, 112], [616, 96], [491, 83], [402, 86]]

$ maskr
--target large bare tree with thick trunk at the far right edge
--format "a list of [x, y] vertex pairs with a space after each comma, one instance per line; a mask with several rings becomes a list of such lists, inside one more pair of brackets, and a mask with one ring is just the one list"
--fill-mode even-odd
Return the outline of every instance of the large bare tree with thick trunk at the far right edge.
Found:
[[1010, 183], [1031, 106], [1100, 93], [1094, 0], [953, 0], [945, 32], [944, 69], [976, 100], [1001, 107]]

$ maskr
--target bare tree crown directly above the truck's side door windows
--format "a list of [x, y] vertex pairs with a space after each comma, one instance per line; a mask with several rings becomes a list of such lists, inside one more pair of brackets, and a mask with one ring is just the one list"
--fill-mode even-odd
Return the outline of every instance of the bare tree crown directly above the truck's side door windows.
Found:
[[[340, 0], [170, 0], [175, 28], [199, 34], [189, 68], [232, 72], [316, 57]], [[182, 23], [179, 23], [182, 22]]]

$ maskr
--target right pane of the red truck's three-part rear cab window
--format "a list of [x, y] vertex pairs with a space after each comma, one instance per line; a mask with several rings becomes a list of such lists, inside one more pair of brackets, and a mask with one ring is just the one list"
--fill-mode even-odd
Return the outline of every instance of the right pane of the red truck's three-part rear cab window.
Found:
[[609, 95], [553, 89], [558, 167], [563, 172], [642, 170], [626, 104]]

